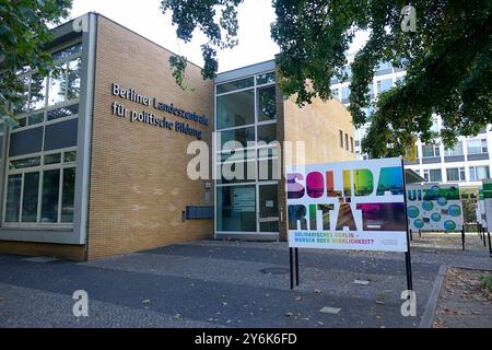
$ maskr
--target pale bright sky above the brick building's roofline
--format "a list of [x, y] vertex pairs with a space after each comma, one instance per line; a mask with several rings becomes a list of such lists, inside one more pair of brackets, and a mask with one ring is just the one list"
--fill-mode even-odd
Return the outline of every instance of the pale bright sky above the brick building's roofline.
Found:
[[[98, 12], [202, 67], [200, 45], [207, 42], [206, 37], [197, 31], [190, 43], [177, 39], [171, 13], [163, 14], [160, 5], [161, 0], [73, 0], [70, 19], [91, 11]], [[238, 7], [239, 44], [218, 52], [219, 72], [273, 59], [279, 52], [279, 47], [270, 37], [270, 24], [274, 20], [270, 0], [245, 0]], [[361, 47], [366, 36], [361, 33], [350, 51]]]

